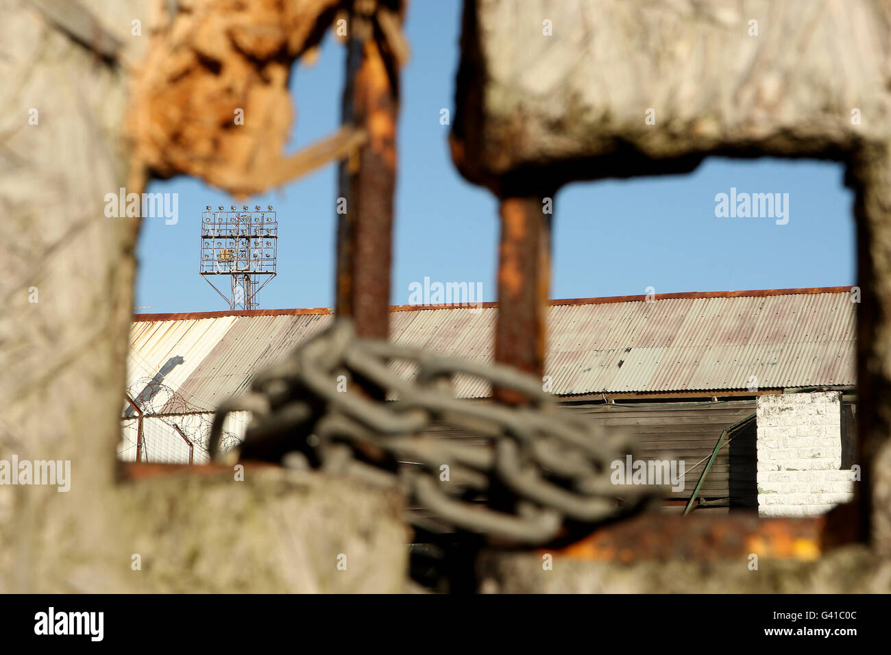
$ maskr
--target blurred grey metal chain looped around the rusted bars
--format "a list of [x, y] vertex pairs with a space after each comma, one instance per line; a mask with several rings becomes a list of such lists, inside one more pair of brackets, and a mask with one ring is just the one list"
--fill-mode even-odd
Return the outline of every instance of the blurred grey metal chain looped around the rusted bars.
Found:
[[[394, 373], [391, 361], [413, 364], [414, 379]], [[456, 398], [455, 374], [513, 389], [531, 402]], [[345, 379], [396, 399], [339, 390]], [[239, 410], [249, 410], [252, 418], [241, 446], [227, 455], [230, 461], [274, 448], [290, 466], [399, 488], [408, 500], [408, 520], [434, 532], [465, 530], [544, 544], [567, 520], [593, 525], [613, 519], [637, 509], [654, 491], [612, 484], [610, 463], [631, 452], [628, 440], [560, 408], [535, 377], [503, 364], [358, 338], [347, 319], [258, 373], [249, 392], [220, 406], [208, 442], [212, 457], [221, 456], [225, 416]], [[486, 444], [422, 434], [432, 422], [469, 430]], [[495, 487], [497, 509], [491, 503]]]

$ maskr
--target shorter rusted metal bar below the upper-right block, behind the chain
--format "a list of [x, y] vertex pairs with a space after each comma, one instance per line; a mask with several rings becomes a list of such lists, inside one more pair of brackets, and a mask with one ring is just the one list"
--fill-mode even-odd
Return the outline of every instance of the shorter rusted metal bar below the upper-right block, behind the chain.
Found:
[[[541, 197], [503, 198], [498, 263], [495, 361], [541, 376], [544, 373], [548, 287], [551, 281], [551, 214]], [[493, 389], [497, 401], [524, 398]]]

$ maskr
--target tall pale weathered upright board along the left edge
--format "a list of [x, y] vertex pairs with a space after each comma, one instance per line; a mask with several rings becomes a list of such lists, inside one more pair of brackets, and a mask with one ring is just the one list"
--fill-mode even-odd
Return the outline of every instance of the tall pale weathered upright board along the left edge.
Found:
[[[145, 3], [82, 4], [136, 53], [130, 21]], [[0, 0], [0, 458], [69, 460], [73, 480], [68, 493], [0, 487], [4, 592], [64, 589], [110, 556], [105, 496], [133, 307], [138, 222], [103, 212], [127, 180], [126, 71], [44, 5], [55, 6]], [[68, 566], [51, 580], [56, 558]]]

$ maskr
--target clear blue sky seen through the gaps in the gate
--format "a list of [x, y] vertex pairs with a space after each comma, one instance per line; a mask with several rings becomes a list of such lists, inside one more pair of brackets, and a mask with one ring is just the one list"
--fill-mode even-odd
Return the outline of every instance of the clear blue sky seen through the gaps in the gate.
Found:
[[[481, 282], [495, 300], [497, 204], [458, 175], [449, 156], [461, 0], [414, 2], [406, 32], [412, 61], [403, 72], [399, 176], [391, 302], [409, 285]], [[331, 37], [314, 67], [294, 70], [296, 103], [289, 151], [339, 125], [345, 50]], [[331, 307], [337, 198], [333, 165], [249, 199], [279, 217], [278, 276], [260, 308]], [[843, 168], [813, 160], [706, 160], [687, 176], [569, 184], [555, 198], [552, 298], [674, 291], [839, 286], [855, 282], [853, 194]], [[789, 224], [715, 217], [715, 194], [789, 193]], [[200, 212], [229, 205], [225, 193], [180, 176], [151, 192], [179, 193], [179, 221], [146, 218], [137, 249], [136, 307], [193, 312], [227, 306], [198, 274]]]

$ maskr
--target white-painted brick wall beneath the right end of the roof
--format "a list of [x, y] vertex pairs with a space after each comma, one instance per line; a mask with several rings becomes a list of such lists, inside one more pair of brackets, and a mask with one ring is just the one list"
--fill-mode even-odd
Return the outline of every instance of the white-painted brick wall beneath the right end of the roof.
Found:
[[838, 391], [758, 397], [758, 514], [810, 516], [854, 497]]

